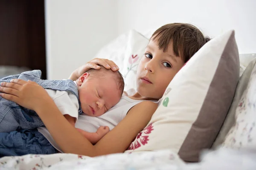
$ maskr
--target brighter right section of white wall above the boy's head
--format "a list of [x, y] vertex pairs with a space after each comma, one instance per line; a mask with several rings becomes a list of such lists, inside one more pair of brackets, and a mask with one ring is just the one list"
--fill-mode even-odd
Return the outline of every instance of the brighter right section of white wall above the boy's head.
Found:
[[209, 37], [236, 31], [239, 53], [256, 53], [256, 0], [119, 0], [118, 33], [192, 23]]

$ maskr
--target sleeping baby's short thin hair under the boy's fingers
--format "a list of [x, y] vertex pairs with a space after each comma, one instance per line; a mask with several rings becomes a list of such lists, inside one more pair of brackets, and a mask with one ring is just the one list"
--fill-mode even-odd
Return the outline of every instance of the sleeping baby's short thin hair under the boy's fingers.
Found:
[[106, 69], [105, 67], [100, 65], [99, 70], [91, 68], [90, 70], [87, 71], [87, 73], [90, 73], [90, 75], [93, 77], [95, 77], [95, 76], [96, 77], [104, 77], [107, 73], [112, 74], [114, 80], [116, 81], [116, 85], [119, 88], [118, 90], [120, 90], [121, 96], [122, 96], [122, 93], [125, 88], [125, 82], [122, 77], [122, 74], [119, 71], [112, 71], [111, 69]]

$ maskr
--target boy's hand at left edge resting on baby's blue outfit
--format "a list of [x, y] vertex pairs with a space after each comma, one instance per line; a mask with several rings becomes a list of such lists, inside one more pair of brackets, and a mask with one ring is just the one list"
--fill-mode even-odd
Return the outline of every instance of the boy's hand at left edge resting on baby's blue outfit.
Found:
[[12, 79], [11, 82], [2, 82], [0, 92], [2, 92], [0, 96], [4, 99], [34, 111], [52, 100], [44, 88], [30, 80], [27, 82], [22, 79]]

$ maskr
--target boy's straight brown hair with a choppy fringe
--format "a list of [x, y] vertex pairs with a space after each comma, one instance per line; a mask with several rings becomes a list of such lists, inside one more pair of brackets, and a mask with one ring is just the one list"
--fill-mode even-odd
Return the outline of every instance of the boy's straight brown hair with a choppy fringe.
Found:
[[171, 23], [158, 28], [151, 36], [157, 40], [159, 49], [167, 51], [169, 42], [173, 42], [173, 51], [176, 56], [187, 62], [206, 42], [209, 37], [204, 37], [203, 33], [186, 23]]

